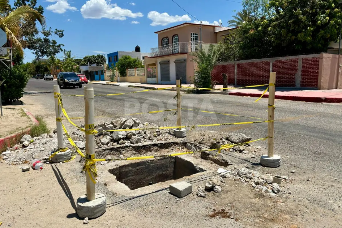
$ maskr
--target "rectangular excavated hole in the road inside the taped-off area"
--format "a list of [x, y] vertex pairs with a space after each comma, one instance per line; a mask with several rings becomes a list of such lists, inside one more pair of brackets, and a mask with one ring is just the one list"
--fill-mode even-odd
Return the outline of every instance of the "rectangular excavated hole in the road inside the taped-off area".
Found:
[[108, 171], [115, 175], [119, 182], [134, 190], [167, 180], [180, 179], [206, 170], [176, 156], [143, 160], [121, 165]]

